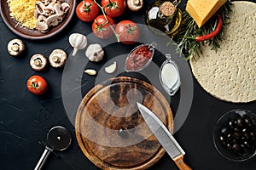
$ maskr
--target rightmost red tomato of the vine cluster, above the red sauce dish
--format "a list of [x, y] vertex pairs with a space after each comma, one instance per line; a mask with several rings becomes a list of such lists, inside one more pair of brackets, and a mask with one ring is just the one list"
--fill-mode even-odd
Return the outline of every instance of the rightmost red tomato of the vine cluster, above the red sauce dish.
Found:
[[120, 21], [115, 31], [119, 34], [120, 42], [124, 44], [132, 44], [137, 42], [140, 37], [140, 30], [137, 24], [131, 20]]

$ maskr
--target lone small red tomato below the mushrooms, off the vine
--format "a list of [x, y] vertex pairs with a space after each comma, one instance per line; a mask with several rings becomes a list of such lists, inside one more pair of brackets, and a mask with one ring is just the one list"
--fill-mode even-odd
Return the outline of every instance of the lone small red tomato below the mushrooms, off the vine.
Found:
[[41, 95], [47, 90], [47, 82], [43, 77], [32, 76], [27, 80], [26, 88], [32, 94]]

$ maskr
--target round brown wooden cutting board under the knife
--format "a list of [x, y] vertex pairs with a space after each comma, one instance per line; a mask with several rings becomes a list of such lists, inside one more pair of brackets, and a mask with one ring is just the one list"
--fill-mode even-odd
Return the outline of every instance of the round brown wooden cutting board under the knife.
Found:
[[165, 150], [137, 109], [141, 102], [173, 131], [169, 103], [156, 88], [131, 77], [115, 77], [84, 96], [76, 116], [76, 137], [97, 167], [138, 170], [152, 166]]

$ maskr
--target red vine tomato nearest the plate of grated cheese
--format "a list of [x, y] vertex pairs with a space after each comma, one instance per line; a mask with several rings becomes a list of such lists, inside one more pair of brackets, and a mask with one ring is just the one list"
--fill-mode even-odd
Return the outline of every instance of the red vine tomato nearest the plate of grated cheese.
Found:
[[99, 7], [93, 0], [83, 0], [76, 8], [79, 20], [90, 22], [99, 14]]

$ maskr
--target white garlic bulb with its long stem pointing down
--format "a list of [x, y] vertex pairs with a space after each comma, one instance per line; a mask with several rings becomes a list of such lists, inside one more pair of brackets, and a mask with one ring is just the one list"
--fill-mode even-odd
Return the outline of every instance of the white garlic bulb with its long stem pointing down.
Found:
[[73, 33], [68, 38], [70, 45], [73, 47], [73, 56], [79, 49], [84, 49], [87, 45], [87, 38], [83, 34]]

